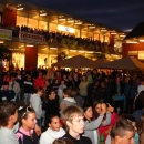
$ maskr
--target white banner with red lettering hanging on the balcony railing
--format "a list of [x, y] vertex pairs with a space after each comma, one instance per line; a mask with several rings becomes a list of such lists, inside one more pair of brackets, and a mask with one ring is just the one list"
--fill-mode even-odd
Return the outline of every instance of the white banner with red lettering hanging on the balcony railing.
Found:
[[19, 41], [32, 44], [43, 44], [43, 35], [20, 31]]

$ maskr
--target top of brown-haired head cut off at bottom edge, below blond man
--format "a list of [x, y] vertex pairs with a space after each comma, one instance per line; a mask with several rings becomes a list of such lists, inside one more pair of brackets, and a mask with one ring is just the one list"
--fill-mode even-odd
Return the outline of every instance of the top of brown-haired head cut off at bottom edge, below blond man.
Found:
[[74, 144], [70, 138], [66, 137], [60, 137], [54, 140], [52, 144]]

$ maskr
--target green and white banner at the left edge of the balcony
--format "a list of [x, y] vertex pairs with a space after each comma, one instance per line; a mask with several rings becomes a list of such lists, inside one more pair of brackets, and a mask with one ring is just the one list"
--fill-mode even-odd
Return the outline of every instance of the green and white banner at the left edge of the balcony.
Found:
[[0, 39], [12, 40], [12, 30], [0, 29]]

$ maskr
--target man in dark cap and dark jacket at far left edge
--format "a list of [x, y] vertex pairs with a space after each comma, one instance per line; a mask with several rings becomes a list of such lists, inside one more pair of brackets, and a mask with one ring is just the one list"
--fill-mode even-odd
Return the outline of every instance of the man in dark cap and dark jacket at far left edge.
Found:
[[2, 89], [0, 90], [0, 99], [2, 101], [10, 100], [14, 101], [16, 93], [13, 90], [9, 90], [9, 82], [4, 81], [2, 83]]

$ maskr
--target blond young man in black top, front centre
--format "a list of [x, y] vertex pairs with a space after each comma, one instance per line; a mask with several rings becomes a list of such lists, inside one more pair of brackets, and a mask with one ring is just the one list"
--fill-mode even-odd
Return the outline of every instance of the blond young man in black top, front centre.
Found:
[[79, 106], [68, 106], [62, 113], [66, 134], [63, 137], [70, 138], [74, 144], [92, 144], [91, 140], [82, 136], [84, 132], [83, 111]]

